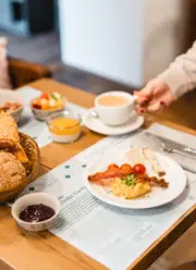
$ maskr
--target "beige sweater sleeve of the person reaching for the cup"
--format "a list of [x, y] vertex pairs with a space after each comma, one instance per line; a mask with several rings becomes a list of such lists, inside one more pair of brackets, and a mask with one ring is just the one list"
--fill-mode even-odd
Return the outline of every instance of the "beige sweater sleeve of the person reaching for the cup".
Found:
[[177, 57], [159, 77], [169, 85], [175, 98], [194, 89], [196, 87], [196, 41], [185, 54]]

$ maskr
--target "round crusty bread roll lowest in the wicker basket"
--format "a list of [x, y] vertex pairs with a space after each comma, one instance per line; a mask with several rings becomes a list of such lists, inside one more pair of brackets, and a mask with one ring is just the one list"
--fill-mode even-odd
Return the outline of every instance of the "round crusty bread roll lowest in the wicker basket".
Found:
[[0, 151], [0, 195], [22, 188], [27, 184], [22, 163], [10, 152]]

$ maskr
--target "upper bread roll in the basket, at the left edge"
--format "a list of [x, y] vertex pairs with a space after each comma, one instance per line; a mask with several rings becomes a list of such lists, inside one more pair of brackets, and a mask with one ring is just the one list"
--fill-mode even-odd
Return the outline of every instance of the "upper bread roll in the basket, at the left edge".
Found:
[[0, 113], [0, 149], [17, 149], [20, 136], [13, 118], [4, 112]]

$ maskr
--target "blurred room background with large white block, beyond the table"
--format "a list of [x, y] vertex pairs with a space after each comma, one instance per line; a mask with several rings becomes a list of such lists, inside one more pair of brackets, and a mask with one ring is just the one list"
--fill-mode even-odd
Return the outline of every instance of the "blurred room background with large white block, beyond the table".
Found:
[[95, 94], [142, 87], [196, 38], [194, 0], [1, 0], [8, 53]]

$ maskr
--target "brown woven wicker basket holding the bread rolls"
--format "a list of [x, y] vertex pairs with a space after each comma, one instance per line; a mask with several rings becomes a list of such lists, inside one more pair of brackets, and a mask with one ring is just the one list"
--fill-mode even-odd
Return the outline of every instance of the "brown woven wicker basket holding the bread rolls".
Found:
[[33, 182], [39, 170], [39, 147], [37, 143], [30, 138], [28, 135], [24, 133], [20, 133], [21, 145], [23, 146], [28, 159], [30, 160], [30, 168], [27, 172], [27, 182], [24, 182], [23, 185], [20, 186], [20, 189], [0, 193], [0, 201], [8, 201], [16, 197], [27, 184]]

